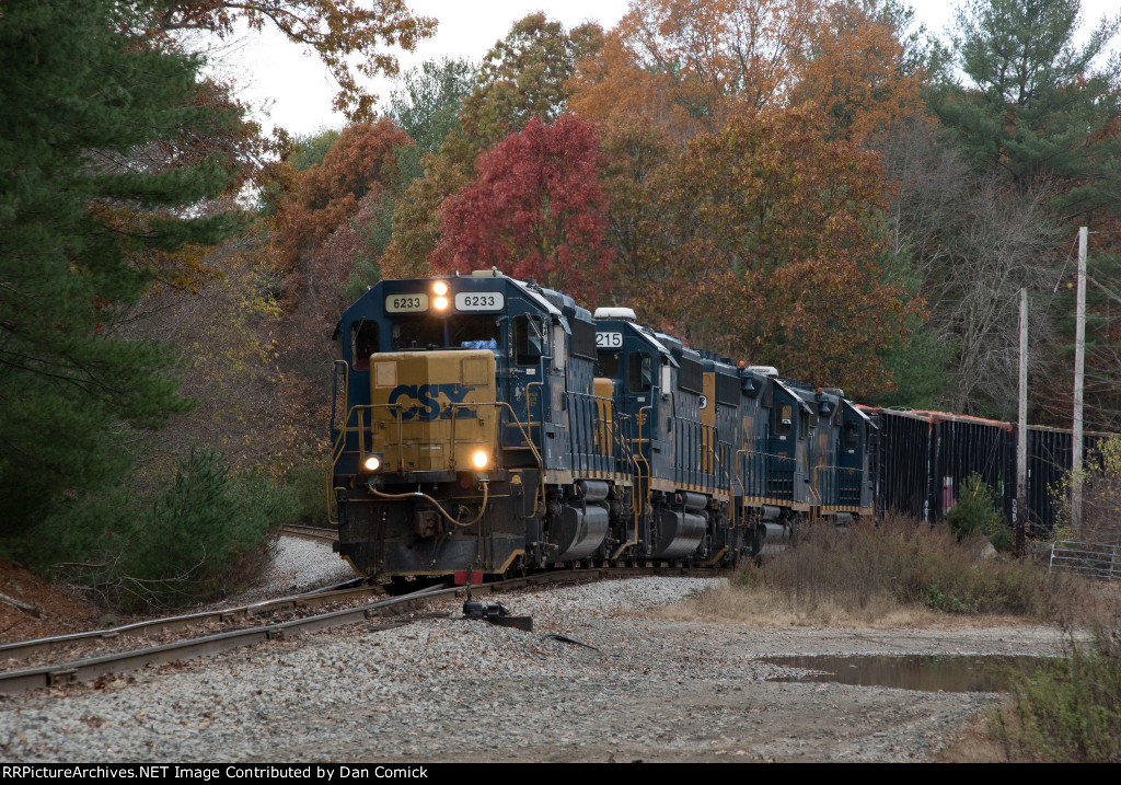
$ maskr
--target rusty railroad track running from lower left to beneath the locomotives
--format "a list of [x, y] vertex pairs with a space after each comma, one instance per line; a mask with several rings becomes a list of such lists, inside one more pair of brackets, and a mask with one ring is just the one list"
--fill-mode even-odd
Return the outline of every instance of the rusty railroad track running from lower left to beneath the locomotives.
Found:
[[[666, 570], [666, 569], [586, 569], [550, 571], [513, 578], [504, 581], [485, 583], [473, 587], [474, 594], [484, 595], [488, 593], [501, 593], [529, 585], [540, 585], [544, 583], [578, 583], [603, 579], [634, 578], [640, 575], [695, 575], [696, 570]], [[706, 575], [713, 575], [712, 570], [703, 571]], [[289, 619], [285, 621], [272, 621], [266, 624], [253, 624], [253, 617], [265, 613], [277, 613], [285, 611], [306, 612], [311, 608], [323, 607], [324, 604], [352, 601], [355, 598], [372, 597], [383, 593], [383, 587], [332, 587], [316, 592], [297, 594], [280, 598], [267, 602], [259, 602], [252, 606], [243, 606], [226, 610], [211, 611], [205, 613], [191, 613], [166, 619], [155, 619], [135, 625], [126, 625], [104, 630], [91, 632], [78, 632], [75, 635], [64, 635], [54, 638], [39, 638], [16, 644], [0, 646], [0, 659], [9, 662], [27, 658], [34, 655], [41, 655], [47, 652], [61, 648], [82, 645], [83, 643], [96, 643], [106, 639], [124, 637], [146, 637], [150, 635], [182, 632], [192, 627], [204, 626], [206, 624], [229, 624], [240, 621], [249, 624], [243, 629], [225, 630], [216, 634], [203, 635], [200, 637], [187, 637], [172, 643], [156, 646], [117, 652], [102, 656], [85, 657], [70, 662], [54, 663], [39, 667], [25, 667], [0, 673], [0, 693], [15, 694], [47, 686], [62, 686], [87, 682], [100, 676], [127, 673], [137, 671], [146, 665], [166, 665], [168, 663], [182, 662], [195, 657], [207, 656], [226, 652], [241, 646], [247, 646], [265, 640], [285, 639], [298, 637], [306, 632], [314, 632], [333, 627], [363, 622], [372, 619], [385, 619], [374, 624], [368, 629], [390, 629], [408, 624], [413, 619], [402, 619], [402, 615], [416, 611], [434, 600], [446, 600], [455, 597], [463, 597], [466, 590], [463, 587], [436, 585], [427, 587], [402, 594], [400, 597], [381, 597], [371, 602], [359, 606], [331, 610], [321, 613], [309, 613], [303, 618]], [[396, 617], [396, 618], [395, 618]], [[18, 662], [17, 662], [18, 667]]]

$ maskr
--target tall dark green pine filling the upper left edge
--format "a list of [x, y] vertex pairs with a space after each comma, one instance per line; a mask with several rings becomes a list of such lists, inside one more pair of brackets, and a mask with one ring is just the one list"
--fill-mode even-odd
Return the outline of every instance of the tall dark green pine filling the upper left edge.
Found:
[[[219, 155], [177, 158], [240, 110], [198, 109], [197, 57], [128, 34], [150, 8], [11, 0], [0, 20], [0, 519], [18, 536], [115, 486], [130, 427], [189, 404], [170, 351], [115, 338], [150, 255], [232, 227], [185, 210], [216, 196]], [[123, 30], [123, 31], [122, 31]], [[140, 157], [137, 150], [145, 150]]]

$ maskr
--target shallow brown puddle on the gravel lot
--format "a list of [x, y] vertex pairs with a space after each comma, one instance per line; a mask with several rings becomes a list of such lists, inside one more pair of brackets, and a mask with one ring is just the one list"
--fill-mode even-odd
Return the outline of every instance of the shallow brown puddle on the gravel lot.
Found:
[[1013, 674], [1030, 675], [1043, 657], [1007, 655], [853, 655], [763, 657], [765, 663], [813, 673], [771, 682], [837, 682], [924, 692], [1007, 692]]

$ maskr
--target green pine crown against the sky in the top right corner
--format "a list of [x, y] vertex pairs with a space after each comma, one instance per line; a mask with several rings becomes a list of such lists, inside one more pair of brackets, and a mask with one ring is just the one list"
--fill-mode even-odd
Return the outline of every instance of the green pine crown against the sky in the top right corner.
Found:
[[970, 84], [935, 102], [982, 166], [1021, 190], [1060, 183], [1077, 215], [1118, 206], [1121, 118], [1113, 70], [1097, 61], [1121, 27], [1102, 19], [1075, 44], [1081, 0], [972, 0], [958, 12], [954, 53]]

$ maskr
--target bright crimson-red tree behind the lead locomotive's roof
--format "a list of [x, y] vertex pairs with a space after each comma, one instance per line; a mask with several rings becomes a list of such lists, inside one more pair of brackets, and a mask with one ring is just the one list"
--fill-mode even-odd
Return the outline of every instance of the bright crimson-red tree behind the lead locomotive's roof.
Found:
[[441, 205], [436, 273], [498, 267], [581, 303], [602, 302], [611, 249], [599, 140], [591, 126], [563, 114], [534, 118], [479, 160], [474, 182]]

